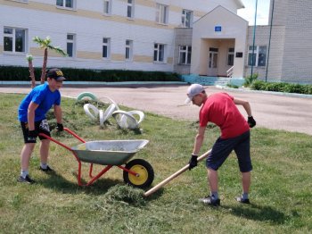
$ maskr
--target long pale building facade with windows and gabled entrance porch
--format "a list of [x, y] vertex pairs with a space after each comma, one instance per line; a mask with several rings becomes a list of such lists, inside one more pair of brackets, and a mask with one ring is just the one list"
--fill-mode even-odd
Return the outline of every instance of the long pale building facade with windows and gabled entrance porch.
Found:
[[[32, 38], [52, 39], [48, 67], [175, 71], [312, 83], [312, 2], [271, 0], [248, 26], [241, 0], [0, 0], [0, 65], [42, 65]], [[254, 38], [255, 35], [255, 38]]]

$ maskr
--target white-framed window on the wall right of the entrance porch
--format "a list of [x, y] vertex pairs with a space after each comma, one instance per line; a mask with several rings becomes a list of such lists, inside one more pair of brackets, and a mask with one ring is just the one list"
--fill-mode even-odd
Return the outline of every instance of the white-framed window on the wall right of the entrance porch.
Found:
[[255, 47], [249, 46], [248, 51], [249, 66], [257, 66], [257, 67], [266, 66], [267, 63], [266, 60], [267, 60], [267, 46], [255, 46]]

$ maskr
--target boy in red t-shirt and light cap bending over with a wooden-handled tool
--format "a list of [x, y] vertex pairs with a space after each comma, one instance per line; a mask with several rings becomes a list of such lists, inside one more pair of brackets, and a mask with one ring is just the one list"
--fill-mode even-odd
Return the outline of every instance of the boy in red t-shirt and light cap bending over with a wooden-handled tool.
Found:
[[[215, 123], [221, 130], [221, 136], [212, 146], [206, 161], [208, 171], [210, 195], [201, 199], [207, 205], [220, 205], [218, 198], [218, 168], [226, 161], [228, 155], [234, 150], [237, 155], [240, 171], [242, 172], [242, 196], [236, 197], [240, 203], [249, 204], [250, 171], [252, 170], [250, 159], [250, 128], [256, 125], [251, 115], [250, 104], [239, 100], [226, 93], [217, 93], [207, 96], [205, 88], [199, 84], [193, 84], [187, 89], [185, 103], [201, 106], [200, 127], [195, 138], [193, 154], [190, 159], [189, 169], [197, 166], [197, 157], [201, 149], [207, 124]], [[236, 107], [241, 104], [248, 114], [245, 121]]]

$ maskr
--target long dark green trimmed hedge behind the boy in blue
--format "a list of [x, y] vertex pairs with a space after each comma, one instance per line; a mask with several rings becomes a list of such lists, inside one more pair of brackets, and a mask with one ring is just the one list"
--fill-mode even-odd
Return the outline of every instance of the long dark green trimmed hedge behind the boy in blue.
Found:
[[[69, 81], [181, 81], [179, 74], [165, 71], [60, 69]], [[41, 70], [41, 68], [35, 68], [37, 81], [40, 79]], [[0, 66], [0, 80], [30, 80], [29, 68], [20, 66]]]

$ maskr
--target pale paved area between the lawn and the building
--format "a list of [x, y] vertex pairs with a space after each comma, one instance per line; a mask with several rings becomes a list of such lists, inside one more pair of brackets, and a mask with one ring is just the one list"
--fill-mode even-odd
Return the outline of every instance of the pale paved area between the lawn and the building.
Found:
[[[120, 105], [136, 110], [158, 113], [171, 118], [196, 121], [199, 107], [182, 105], [185, 101], [186, 86], [147, 87], [66, 87], [62, 96], [77, 97], [82, 92], [92, 92], [98, 98], [109, 96]], [[28, 93], [29, 87], [0, 87], [1, 93]], [[209, 87], [208, 94], [227, 92], [236, 98], [248, 100], [252, 114], [259, 127], [273, 130], [288, 130], [312, 135], [312, 97], [281, 96], [273, 93], [259, 93], [236, 89]], [[241, 108], [240, 108], [241, 109]], [[246, 115], [242, 110], [242, 113]]]

